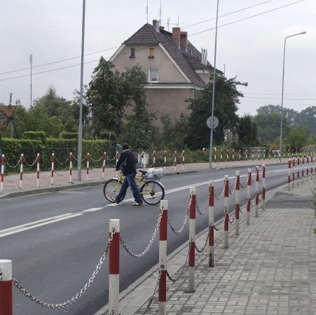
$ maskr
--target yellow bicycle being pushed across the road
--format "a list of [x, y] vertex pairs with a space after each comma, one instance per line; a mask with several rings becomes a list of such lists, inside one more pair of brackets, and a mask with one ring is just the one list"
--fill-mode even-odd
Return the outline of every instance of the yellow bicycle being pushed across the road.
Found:
[[[158, 182], [156, 179], [149, 179], [149, 173], [147, 171], [139, 169], [139, 172], [141, 172], [142, 175], [135, 176], [135, 179], [137, 180], [137, 188], [139, 189], [142, 200], [144, 200], [146, 204], [159, 204], [160, 200], [163, 200], [163, 198], [165, 197], [165, 188], [163, 187], [163, 184]], [[115, 197], [117, 193], [121, 190], [121, 185], [124, 179], [125, 176], [121, 172], [118, 178], [109, 179], [109, 181], [104, 183], [104, 197], [106, 197], [109, 202], [115, 203]], [[120, 202], [124, 198], [125, 195], [122, 197]]]

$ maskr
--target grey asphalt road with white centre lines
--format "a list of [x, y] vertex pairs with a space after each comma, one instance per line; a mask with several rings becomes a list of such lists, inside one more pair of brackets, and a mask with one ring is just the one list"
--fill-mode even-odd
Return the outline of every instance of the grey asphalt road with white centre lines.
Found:
[[[239, 170], [240, 181], [245, 184], [247, 167]], [[204, 211], [209, 179], [215, 181], [215, 192], [221, 195], [225, 174], [233, 177], [230, 179], [232, 190], [235, 169], [165, 176], [161, 179], [166, 191], [165, 200], [168, 200], [168, 215], [175, 230], [179, 230], [184, 223], [190, 186], [196, 186], [198, 207]], [[266, 169], [267, 190], [284, 183], [287, 183], [286, 165]], [[159, 206], [132, 207], [132, 195], [127, 195], [121, 204], [109, 204], [102, 188], [94, 186], [0, 200], [0, 258], [13, 261], [13, 276], [39, 300], [63, 303], [80, 292], [104, 253], [110, 219], [120, 219], [121, 236], [133, 253], [142, 253], [149, 244], [158, 222]], [[247, 188], [241, 189], [240, 204], [245, 204], [246, 198]], [[235, 195], [232, 195], [230, 211], [234, 210], [234, 203]], [[215, 221], [223, 217], [223, 209], [224, 200], [215, 200]], [[207, 223], [207, 211], [204, 216], [197, 213], [196, 232], [205, 229]], [[168, 229], [168, 253], [186, 241], [188, 223], [178, 235]], [[120, 290], [127, 288], [157, 263], [158, 235], [142, 258], [133, 258], [121, 246]], [[85, 293], [76, 302], [61, 309], [41, 307], [13, 288], [14, 314], [94, 314], [108, 302], [108, 265], [106, 258]]]

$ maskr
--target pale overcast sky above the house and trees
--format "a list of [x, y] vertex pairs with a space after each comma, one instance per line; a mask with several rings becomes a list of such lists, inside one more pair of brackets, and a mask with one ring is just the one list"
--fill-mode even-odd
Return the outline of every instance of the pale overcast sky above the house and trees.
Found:
[[[68, 100], [80, 90], [82, 0], [0, 0], [0, 102], [32, 98], [54, 85]], [[214, 65], [217, 0], [86, 0], [83, 83], [88, 84], [101, 55], [109, 59], [140, 27], [160, 19], [177, 26], [188, 40], [207, 49]], [[250, 7], [250, 8], [249, 8]], [[236, 12], [238, 11], [238, 12]], [[169, 20], [169, 26], [168, 26]], [[316, 105], [316, 1], [219, 0], [217, 69], [237, 76], [247, 87], [238, 114], [256, 114], [266, 104], [281, 104], [284, 38], [284, 107], [302, 111]], [[43, 73], [44, 72], [44, 73]]]

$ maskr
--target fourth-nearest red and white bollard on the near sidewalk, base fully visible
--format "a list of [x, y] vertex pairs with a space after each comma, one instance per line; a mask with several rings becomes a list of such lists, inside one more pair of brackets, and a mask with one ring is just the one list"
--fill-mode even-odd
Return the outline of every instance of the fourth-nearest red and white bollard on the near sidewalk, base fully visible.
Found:
[[194, 267], [195, 267], [195, 187], [190, 188], [190, 221], [188, 227], [189, 253], [188, 253], [188, 293], [194, 292]]

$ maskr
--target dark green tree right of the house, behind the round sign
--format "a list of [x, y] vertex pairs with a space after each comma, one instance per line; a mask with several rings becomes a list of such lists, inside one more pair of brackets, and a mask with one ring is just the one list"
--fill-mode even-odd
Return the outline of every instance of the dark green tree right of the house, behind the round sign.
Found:
[[[214, 116], [219, 118], [219, 126], [214, 130], [214, 144], [224, 142], [225, 131], [234, 131], [237, 127], [239, 97], [237, 86], [247, 83], [240, 83], [235, 78], [227, 79], [217, 76], [214, 97]], [[210, 130], [206, 125], [207, 118], [211, 116], [213, 83], [209, 83], [197, 99], [189, 99], [188, 109], [191, 114], [188, 116], [188, 135], [186, 142], [189, 148], [196, 150], [209, 146]]]

